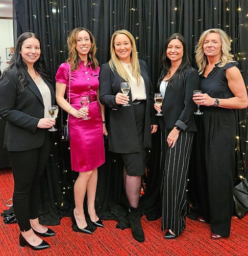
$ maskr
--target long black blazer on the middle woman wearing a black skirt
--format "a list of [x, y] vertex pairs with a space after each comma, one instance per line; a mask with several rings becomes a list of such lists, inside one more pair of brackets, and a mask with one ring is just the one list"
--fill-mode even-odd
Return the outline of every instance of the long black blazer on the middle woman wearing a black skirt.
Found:
[[[146, 92], [146, 112], [143, 148], [152, 146], [151, 124], [156, 124], [154, 111], [154, 90], [150, 77], [148, 76], [145, 61], [139, 60], [140, 73], [144, 79]], [[125, 82], [116, 71], [112, 71], [109, 62], [102, 65], [100, 69], [100, 102], [109, 108], [109, 150], [116, 153], [134, 153], [139, 152], [139, 142], [136, 130], [134, 109], [132, 103], [131, 90], [129, 98], [131, 99], [127, 106], [122, 108], [115, 102], [115, 95], [120, 90], [120, 83]]]

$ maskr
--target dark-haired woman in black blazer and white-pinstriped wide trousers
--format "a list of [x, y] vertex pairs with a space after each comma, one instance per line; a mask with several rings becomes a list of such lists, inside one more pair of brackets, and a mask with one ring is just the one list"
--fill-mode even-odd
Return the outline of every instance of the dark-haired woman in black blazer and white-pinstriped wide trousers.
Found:
[[[185, 229], [186, 184], [191, 153], [195, 105], [193, 90], [199, 88], [197, 71], [190, 67], [185, 38], [172, 34], [161, 60], [158, 90], [163, 94], [161, 126], [162, 230], [164, 238], [178, 237]], [[154, 104], [161, 112], [161, 105]]]

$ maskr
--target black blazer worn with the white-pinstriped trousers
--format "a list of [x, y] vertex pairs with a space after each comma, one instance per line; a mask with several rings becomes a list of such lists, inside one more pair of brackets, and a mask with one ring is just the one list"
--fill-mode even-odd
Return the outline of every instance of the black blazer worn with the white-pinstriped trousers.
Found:
[[[158, 87], [163, 80], [161, 74], [158, 81]], [[197, 131], [194, 112], [196, 104], [193, 102], [193, 90], [199, 89], [199, 74], [193, 68], [188, 68], [178, 76], [172, 86], [167, 86], [162, 112], [163, 116], [159, 117], [159, 124], [162, 131], [172, 130], [175, 125], [179, 126], [185, 132]], [[163, 120], [163, 121], [162, 121]]]

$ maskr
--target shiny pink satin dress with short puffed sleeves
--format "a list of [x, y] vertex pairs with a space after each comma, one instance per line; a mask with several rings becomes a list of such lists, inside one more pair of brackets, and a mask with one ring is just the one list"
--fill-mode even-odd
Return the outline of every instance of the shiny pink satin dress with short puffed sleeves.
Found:
[[[79, 110], [80, 96], [90, 95], [88, 120], [69, 115], [71, 169], [76, 172], [88, 172], [105, 162], [103, 120], [100, 105], [96, 98], [99, 87], [99, 71], [95, 71], [90, 62], [87, 67], [80, 63], [78, 70], [71, 71], [70, 105]], [[69, 97], [69, 65], [62, 63], [56, 74], [56, 82], [66, 84]]]

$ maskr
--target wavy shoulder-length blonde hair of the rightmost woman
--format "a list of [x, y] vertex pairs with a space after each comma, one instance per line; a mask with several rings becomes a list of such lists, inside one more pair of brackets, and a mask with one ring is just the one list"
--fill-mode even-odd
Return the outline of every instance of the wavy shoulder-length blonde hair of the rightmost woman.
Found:
[[222, 29], [209, 29], [202, 33], [198, 45], [195, 48], [195, 59], [196, 63], [199, 67], [199, 73], [202, 74], [208, 64], [208, 58], [204, 54], [203, 45], [204, 41], [207, 35], [210, 33], [217, 33], [220, 36], [220, 42], [221, 42], [221, 52], [220, 52], [220, 63], [218, 64], [218, 67], [224, 67], [227, 63], [233, 62], [233, 55], [230, 53], [231, 51], [231, 42], [228, 38], [228, 35], [225, 31]]

